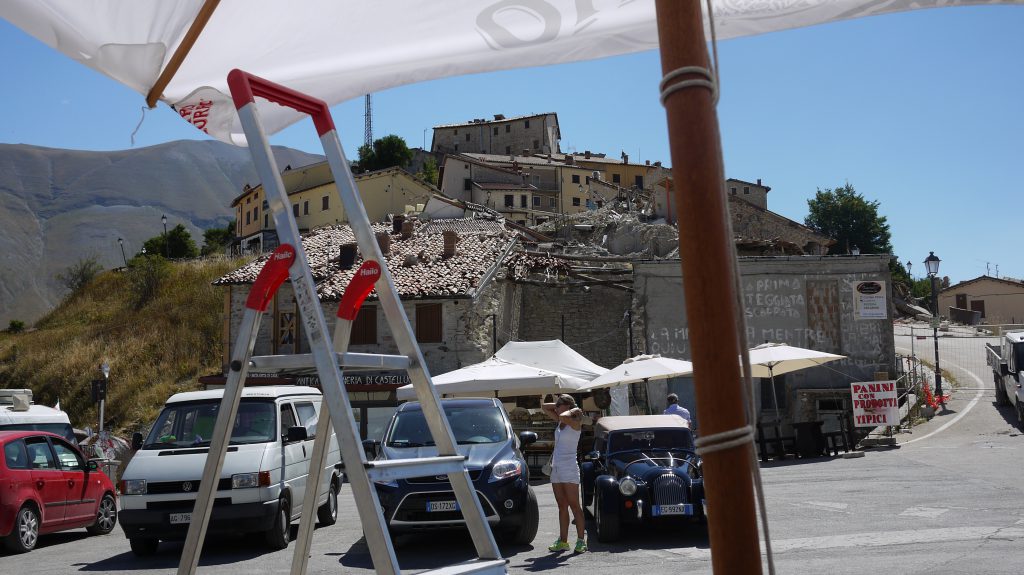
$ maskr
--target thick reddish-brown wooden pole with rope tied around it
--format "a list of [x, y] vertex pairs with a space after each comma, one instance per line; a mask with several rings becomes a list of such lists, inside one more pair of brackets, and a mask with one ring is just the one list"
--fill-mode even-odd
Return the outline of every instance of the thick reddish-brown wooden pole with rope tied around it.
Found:
[[[656, 0], [662, 71], [710, 69], [701, 2]], [[684, 76], [681, 80], [696, 78]], [[718, 116], [710, 90], [690, 87], [666, 100], [679, 256], [701, 435], [746, 425], [736, 333], [735, 250], [723, 189]], [[715, 573], [761, 573], [751, 465], [753, 445], [703, 457], [712, 567]]]

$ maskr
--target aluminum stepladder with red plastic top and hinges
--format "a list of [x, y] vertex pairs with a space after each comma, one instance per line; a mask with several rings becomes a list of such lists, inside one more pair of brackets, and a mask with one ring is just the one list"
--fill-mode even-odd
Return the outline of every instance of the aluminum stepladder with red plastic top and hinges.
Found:
[[[472, 537], [478, 559], [425, 573], [435, 573], [437, 575], [507, 573], [506, 562], [501, 557], [501, 551], [487, 525], [483, 508], [480, 505], [476, 491], [466, 471], [466, 459], [458, 453], [455, 436], [444, 416], [440, 399], [431, 383], [430, 374], [427, 371], [423, 355], [414, 337], [413, 328], [398, 299], [397, 290], [388, 271], [386, 260], [377, 244], [377, 238], [374, 235], [366, 209], [362, 207], [362, 202], [355, 187], [355, 180], [349, 170], [348, 161], [345, 159], [341, 140], [338, 138], [338, 133], [334, 127], [334, 121], [331, 118], [327, 103], [240, 70], [231, 71], [227, 77], [227, 83], [242, 122], [243, 130], [246, 134], [246, 139], [248, 140], [250, 152], [253, 156], [253, 162], [256, 165], [257, 174], [263, 182], [268, 208], [273, 216], [278, 235], [281, 239], [282, 249], [279, 249], [279, 252], [285, 255], [275, 252], [271, 256], [270, 260], [265, 264], [264, 270], [260, 272], [261, 276], [264, 276], [265, 272], [267, 279], [264, 279], [262, 282], [257, 279], [257, 282], [253, 284], [253, 292], [250, 293], [250, 300], [253, 305], [250, 306], [250, 302], [247, 301], [247, 309], [240, 326], [238, 340], [231, 352], [227, 383], [223, 398], [221, 399], [220, 409], [218, 410], [217, 423], [214, 426], [209, 455], [206, 467], [203, 470], [203, 478], [200, 481], [193, 522], [189, 525], [188, 535], [182, 549], [178, 574], [190, 575], [196, 572], [199, 564], [199, 556], [210, 519], [215, 488], [220, 477], [225, 449], [230, 437], [230, 423], [233, 422], [238, 411], [242, 386], [250, 365], [259, 367], [261, 370], [315, 366], [327, 404], [327, 409], [322, 407], [321, 417], [324, 422], [317, 426], [319, 428], [316, 434], [317, 439], [329, 436], [329, 430], [333, 425], [338, 436], [341, 455], [345, 462], [345, 475], [355, 498], [364, 536], [366, 537], [367, 546], [370, 549], [377, 573], [397, 575], [400, 573], [400, 568], [395, 557], [394, 545], [388, 534], [380, 499], [374, 488], [374, 482], [432, 475], [447, 475], [459, 508], [462, 510], [466, 526]], [[343, 349], [337, 350], [333, 347], [331, 336], [328, 334], [324, 311], [316, 297], [316, 288], [309, 268], [309, 262], [302, 247], [298, 226], [290, 209], [288, 192], [285, 189], [281, 173], [273, 159], [269, 141], [256, 114], [256, 97], [263, 97], [281, 105], [292, 107], [298, 112], [308, 114], [312, 118], [313, 125], [316, 128], [325, 154], [327, 156], [328, 165], [334, 175], [338, 194], [348, 217], [349, 225], [355, 235], [362, 259], [365, 262], [373, 261], [380, 266], [379, 279], [376, 280], [377, 295], [400, 355], [347, 353], [347, 349], [345, 349], [347, 348], [347, 330], [343, 325], [350, 326], [350, 321], [338, 325], [338, 333], [345, 340], [344, 342], [339, 342], [342, 344], [340, 347]], [[293, 255], [287, 255], [289, 250], [291, 250]], [[274, 262], [278, 263], [274, 264]], [[286, 266], [286, 264], [288, 265]], [[252, 357], [252, 351], [255, 347], [256, 336], [258, 334], [258, 325], [266, 309], [266, 304], [269, 302], [269, 298], [272, 297], [273, 292], [285, 279], [282, 273], [282, 268], [284, 267], [287, 267], [287, 275], [292, 281], [296, 306], [303, 322], [302, 324], [311, 353], [293, 356]], [[259, 290], [257, 290], [257, 284], [259, 284]], [[367, 293], [369, 293], [369, 290], [367, 290]], [[262, 307], [260, 307], [260, 304], [262, 304]], [[343, 299], [341, 308], [344, 307], [345, 301]], [[343, 311], [343, 309], [339, 309], [339, 316], [342, 316]], [[340, 317], [340, 321], [345, 321], [345, 318]], [[410, 380], [416, 390], [427, 427], [437, 446], [438, 455], [417, 459], [368, 460], [366, 452], [362, 449], [362, 444], [359, 441], [358, 429], [355, 418], [352, 415], [351, 404], [345, 392], [344, 378], [339, 365], [390, 369], [404, 368], [409, 372]], [[325, 417], [328, 413], [330, 414], [330, 418]], [[321, 430], [327, 433], [322, 433]], [[324, 451], [326, 451], [327, 440], [325, 439], [318, 446], [316, 443], [314, 441], [314, 456], [323, 456]], [[310, 471], [315, 467], [311, 462]], [[323, 468], [323, 466], [319, 466], [319, 468]], [[318, 469], [316, 473], [318, 474], [321, 471], [323, 470]], [[312, 484], [312, 489], [315, 489], [316, 483]], [[307, 499], [309, 498], [307, 497]], [[309, 505], [307, 508], [312, 508], [312, 504], [308, 500], [304, 503]], [[297, 555], [294, 558], [293, 573], [299, 574], [305, 571], [305, 561], [312, 531], [311, 525], [314, 521], [315, 514], [304, 513], [302, 515], [299, 526], [300, 536], [296, 542], [296, 554], [301, 554], [301, 557]]]

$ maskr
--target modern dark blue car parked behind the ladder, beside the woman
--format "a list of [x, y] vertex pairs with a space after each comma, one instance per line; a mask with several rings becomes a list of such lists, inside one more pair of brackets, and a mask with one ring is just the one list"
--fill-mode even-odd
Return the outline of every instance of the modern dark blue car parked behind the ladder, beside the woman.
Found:
[[[537, 434], [522, 432], [516, 437], [508, 413], [497, 399], [444, 399], [441, 407], [459, 444], [459, 453], [467, 457], [469, 477], [496, 539], [529, 544], [537, 536], [540, 514], [520, 447], [536, 441]], [[368, 440], [364, 445], [368, 456], [377, 459], [437, 455], [419, 402], [399, 405], [382, 440]], [[465, 528], [447, 476], [375, 485], [392, 534]]]

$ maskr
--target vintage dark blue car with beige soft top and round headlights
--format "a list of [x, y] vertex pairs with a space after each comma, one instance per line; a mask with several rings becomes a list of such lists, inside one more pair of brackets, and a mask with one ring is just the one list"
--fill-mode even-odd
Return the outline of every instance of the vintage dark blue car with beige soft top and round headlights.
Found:
[[584, 506], [594, 505], [597, 538], [623, 526], [690, 522], [707, 528], [703, 478], [693, 435], [678, 415], [613, 415], [594, 424], [594, 450], [584, 456]]

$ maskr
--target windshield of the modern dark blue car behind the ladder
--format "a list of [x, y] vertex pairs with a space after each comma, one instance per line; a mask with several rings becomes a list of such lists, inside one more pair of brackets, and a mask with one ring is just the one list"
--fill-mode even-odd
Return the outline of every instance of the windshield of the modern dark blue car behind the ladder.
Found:
[[[452, 426], [456, 442], [461, 445], [498, 443], [508, 439], [505, 418], [496, 405], [444, 405], [444, 415]], [[423, 447], [433, 444], [427, 422], [420, 409], [400, 411], [386, 441], [388, 447]]]

